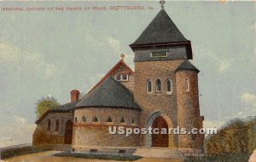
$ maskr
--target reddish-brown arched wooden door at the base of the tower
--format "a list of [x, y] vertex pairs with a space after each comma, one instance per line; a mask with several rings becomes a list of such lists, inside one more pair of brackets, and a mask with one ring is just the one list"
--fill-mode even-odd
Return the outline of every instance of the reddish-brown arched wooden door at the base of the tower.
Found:
[[[161, 130], [162, 128], [166, 128], [166, 131], [168, 132], [168, 125], [166, 120], [159, 116], [157, 117], [152, 124], [152, 128], [158, 128]], [[167, 148], [169, 145], [169, 139], [168, 134], [152, 134], [152, 147], [162, 147]]]

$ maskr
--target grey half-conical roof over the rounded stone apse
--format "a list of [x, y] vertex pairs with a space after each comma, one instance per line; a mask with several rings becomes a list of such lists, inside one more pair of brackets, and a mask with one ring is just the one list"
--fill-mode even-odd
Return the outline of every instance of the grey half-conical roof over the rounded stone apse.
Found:
[[141, 109], [135, 103], [131, 92], [112, 76], [102, 82], [92, 92], [87, 93], [76, 108], [131, 108]]

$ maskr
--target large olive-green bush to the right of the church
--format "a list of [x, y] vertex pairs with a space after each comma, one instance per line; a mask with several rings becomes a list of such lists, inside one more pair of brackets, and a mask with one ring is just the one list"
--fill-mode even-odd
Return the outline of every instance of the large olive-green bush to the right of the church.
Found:
[[[253, 124], [253, 123], [252, 123]], [[253, 151], [255, 132], [253, 125], [240, 119], [230, 120], [218, 130], [217, 135], [207, 137], [209, 154], [245, 154]]]

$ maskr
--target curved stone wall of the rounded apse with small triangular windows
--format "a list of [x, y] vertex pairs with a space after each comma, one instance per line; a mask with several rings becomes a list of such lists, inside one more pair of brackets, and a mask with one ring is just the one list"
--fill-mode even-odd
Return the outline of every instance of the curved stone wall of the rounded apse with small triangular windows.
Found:
[[[136, 128], [140, 124], [140, 111], [137, 109], [85, 108], [75, 110], [78, 119], [73, 126], [73, 148], [82, 151], [91, 146], [99, 147], [135, 147], [139, 146], [139, 135], [110, 134], [109, 126], [124, 126]], [[83, 122], [83, 116], [86, 122]], [[98, 122], [93, 122], [95, 117]], [[107, 122], [111, 117], [112, 122]], [[121, 123], [124, 118], [125, 123]], [[132, 124], [131, 120], [135, 123]]]

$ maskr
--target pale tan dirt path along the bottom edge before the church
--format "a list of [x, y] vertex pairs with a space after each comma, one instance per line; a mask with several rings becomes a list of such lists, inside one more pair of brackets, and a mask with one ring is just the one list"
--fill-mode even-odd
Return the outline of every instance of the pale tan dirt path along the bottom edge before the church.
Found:
[[[52, 154], [58, 153], [58, 151], [46, 151], [36, 154], [26, 154], [17, 156], [15, 158], [4, 159], [3, 162], [120, 162], [116, 160], [103, 160], [103, 159], [79, 159], [79, 158], [67, 158], [67, 157], [55, 157]], [[2, 162], [0, 160], [0, 162]], [[182, 162], [181, 160], [174, 159], [139, 159], [136, 162]]]

